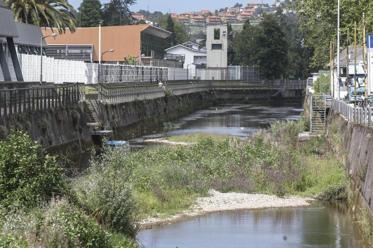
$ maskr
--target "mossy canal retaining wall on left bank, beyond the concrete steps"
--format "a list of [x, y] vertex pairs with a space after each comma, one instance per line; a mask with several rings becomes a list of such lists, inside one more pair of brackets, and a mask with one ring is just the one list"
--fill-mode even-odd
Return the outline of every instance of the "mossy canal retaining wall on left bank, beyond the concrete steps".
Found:
[[202, 91], [116, 105], [99, 103], [99, 113], [107, 126], [116, 127], [115, 138], [125, 139], [132, 134], [138, 135], [160, 127], [163, 122], [212, 106], [213, 101], [212, 91]]

